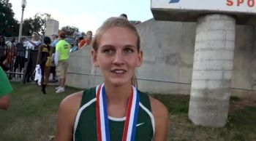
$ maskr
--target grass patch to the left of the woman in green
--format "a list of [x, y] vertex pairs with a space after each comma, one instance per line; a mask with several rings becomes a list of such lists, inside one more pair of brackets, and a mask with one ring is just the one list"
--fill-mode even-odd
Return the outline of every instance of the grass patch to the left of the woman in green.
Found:
[[64, 94], [55, 94], [54, 86], [48, 86], [48, 94], [40, 94], [34, 84], [12, 83], [11, 107], [0, 110], [0, 140], [46, 141], [55, 134], [56, 114], [59, 103], [67, 94], [78, 89], [67, 88]]

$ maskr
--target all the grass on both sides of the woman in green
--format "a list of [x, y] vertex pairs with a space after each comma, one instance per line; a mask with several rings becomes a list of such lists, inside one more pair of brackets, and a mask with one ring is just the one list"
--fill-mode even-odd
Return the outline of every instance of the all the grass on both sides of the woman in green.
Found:
[[[46, 141], [56, 131], [56, 114], [59, 103], [68, 94], [80, 89], [67, 88], [64, 94], [55, 94], [48, 86], [48, 94], [39, 94], [39, 86], [12, 82], [11, 107], [0, 110], [0, 140]], [[226, 126], [211, 128], [195, 126], [187, 117], [189, 96], [153, 95], [162, 101], [170, 112], [168, 140], [256, 140], [256, 106], [240, 105], [231, 110]], [[230, 105], [241, 102], [231, 97]]]

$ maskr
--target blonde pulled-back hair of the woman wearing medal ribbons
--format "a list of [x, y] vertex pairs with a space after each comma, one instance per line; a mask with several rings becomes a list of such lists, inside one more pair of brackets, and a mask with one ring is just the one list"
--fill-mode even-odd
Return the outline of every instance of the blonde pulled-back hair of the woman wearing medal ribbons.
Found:
[[[116, 27], [126, 28], [132, 33], [134, 33], [134, 35], [137, 37], [137, 49], [138, 49], [138, 52], [140, 52], [140, 36], [138, 34], [138, 31], [135, 28], [135, 25], [133, 25], [132, 23], [129, 23], [129, 20], [124, 19], [123, 17], [110, 17], [107, 20], [105, 20], [105, 22], [98, 28], [98, 30], [94, 35], [94, 39], [92, 41], [92, 48], [94, 49], [94, 51], [97, 52], [99, 48], [99, 39], [101, 38], [102, 34], [105, 33], [105, 31], [107, 31], [108, 29], [116, 28]], [[136, 87], [138, 86], [138, 82], [135, 74], [132, 76], [131, 81], [132, 81], [132, 85]]]

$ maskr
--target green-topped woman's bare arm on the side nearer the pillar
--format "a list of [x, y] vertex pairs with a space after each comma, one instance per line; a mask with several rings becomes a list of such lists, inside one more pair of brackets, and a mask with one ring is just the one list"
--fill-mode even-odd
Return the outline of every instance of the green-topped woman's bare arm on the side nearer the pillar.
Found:
[[155, 119], [154, 141], [166, 141], [169, 130], [169, 113], [165, 105], [154, 98], [150, 98], [152, 113]]

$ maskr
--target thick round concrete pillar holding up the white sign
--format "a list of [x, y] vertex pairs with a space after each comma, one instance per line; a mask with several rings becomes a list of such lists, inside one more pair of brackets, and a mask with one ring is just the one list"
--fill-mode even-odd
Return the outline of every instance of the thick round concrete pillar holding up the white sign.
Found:
[[189, 102], [189, 118], [194, 124], [226, 124], [235, 38], [233, 17], [206, 15], [197, 20]]

